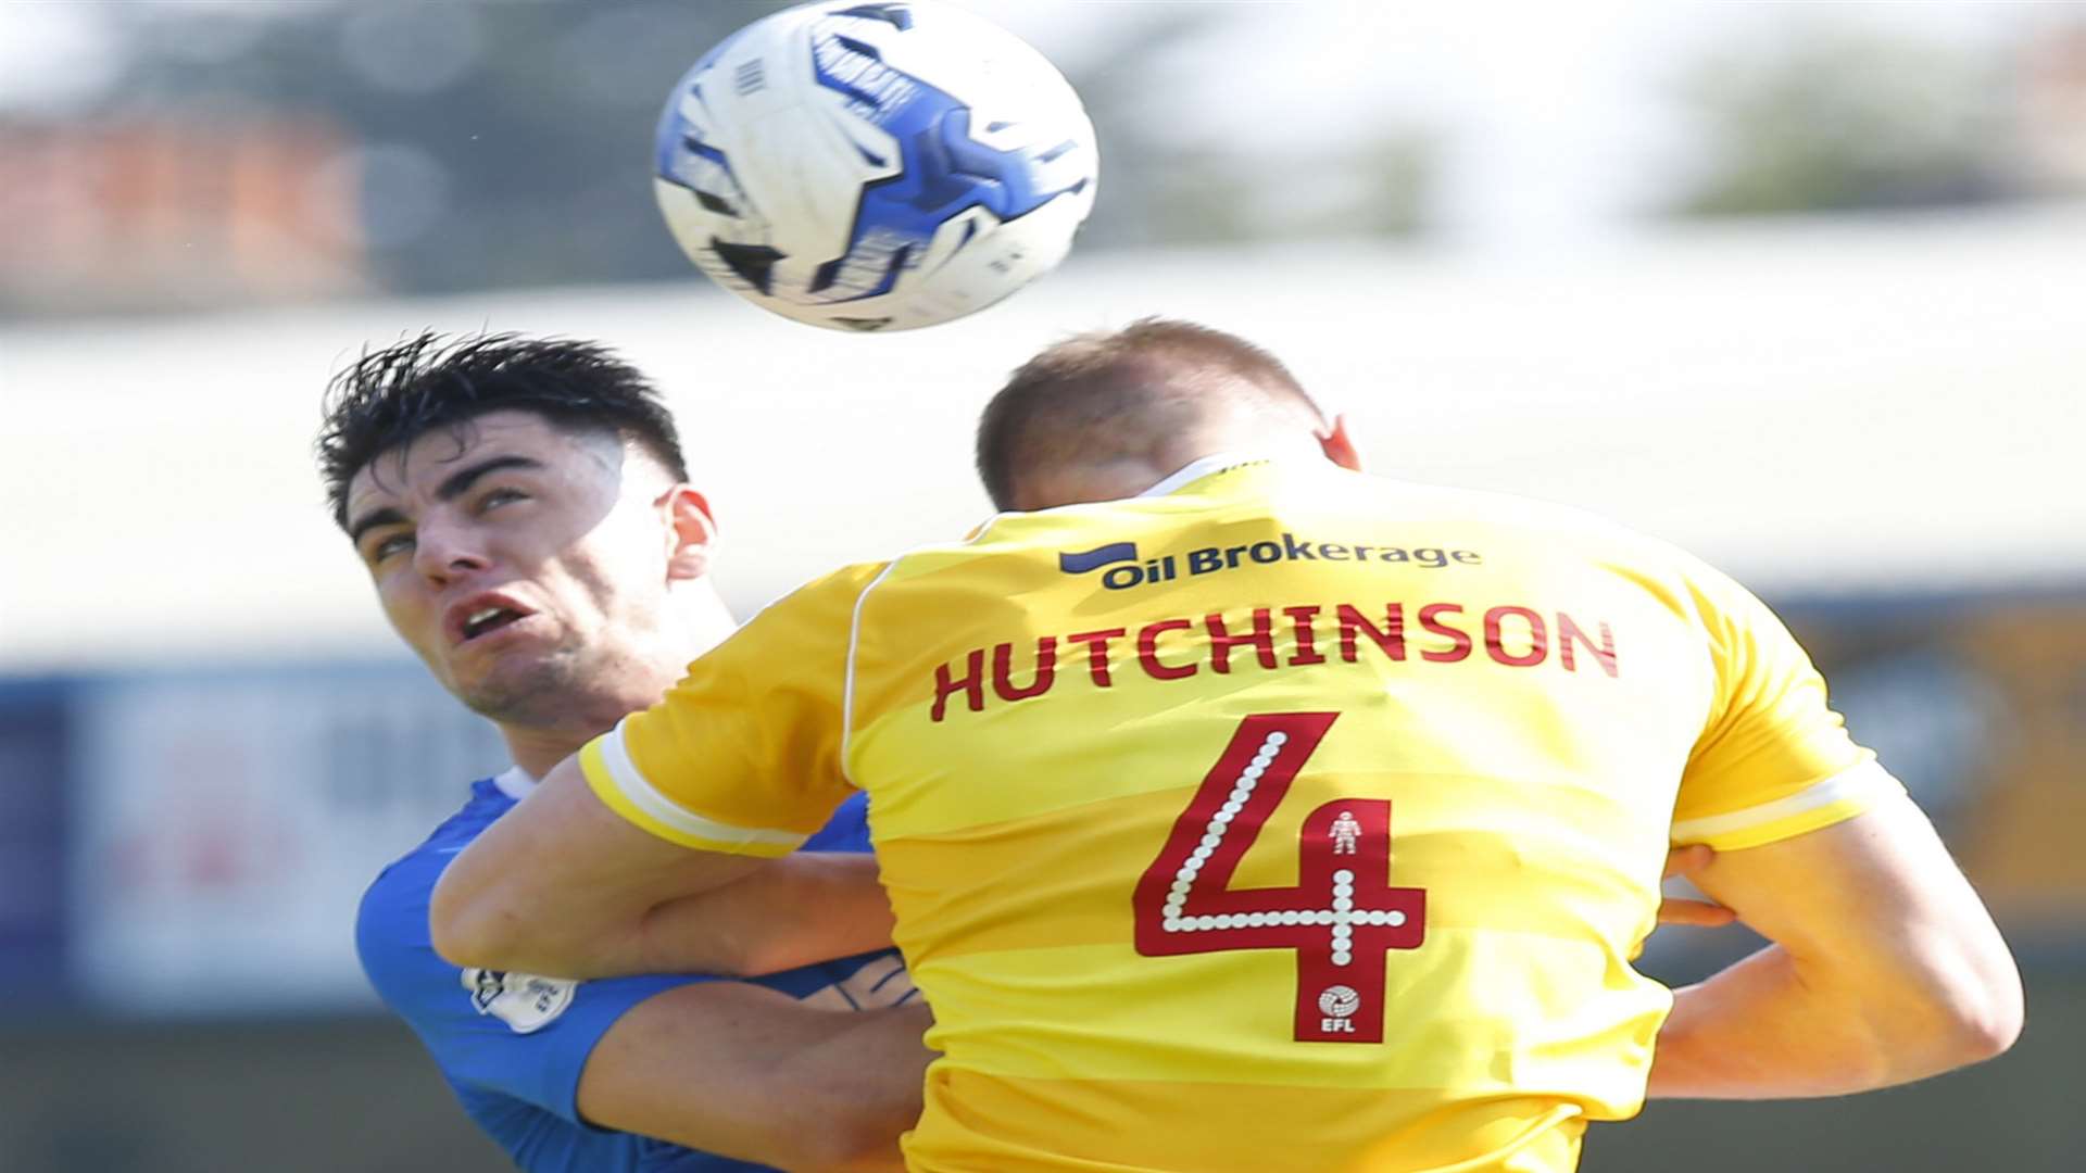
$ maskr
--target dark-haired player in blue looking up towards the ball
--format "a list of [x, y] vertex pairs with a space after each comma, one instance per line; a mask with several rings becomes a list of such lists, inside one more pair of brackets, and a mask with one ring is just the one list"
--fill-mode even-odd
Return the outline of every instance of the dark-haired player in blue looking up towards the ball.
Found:
[[[586, 342], [421, 336], [336, 378], [317, 447], [392, 628], [513, 753], [357, 920], [371, 983], [471, 1119], [542, 1173], [895, 1163], [928, 1056], [891, 950], [713, 981], [674, 973], [665, 914], [615, 954], [655, 977], [582, 983], [459, 968], [428, 943], [455, 854], [734, 626], [709, 580], [709, 507], [647, 380]], [[805, 845], [849, 856], [738, 891], [743, 916], [705, 950], [766, 973], [889, 943], [862, 806]], [[864, 883], [828, 883], [855, 868]], [[805, 935], [820, 948], [793, 943]]]

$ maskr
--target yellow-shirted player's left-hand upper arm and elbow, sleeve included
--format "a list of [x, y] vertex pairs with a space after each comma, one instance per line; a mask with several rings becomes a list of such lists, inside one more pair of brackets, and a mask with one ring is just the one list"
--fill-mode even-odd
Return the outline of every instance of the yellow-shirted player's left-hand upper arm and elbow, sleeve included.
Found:
[[[559, 762], [442, 875], [436, 950], [569, 977], [676, 968], [693, 960], [680, 950], [747, 931], [741, 902], [688, 897], [755, 870], [768, 870], [761, 883], [814, 885], [816, 862], [780, 858], [851, 793], [839, 714], [855, 601], [876, 572], [851, 568], [768, 607], [657, 705]], [[859, 933], [828, 941], [826, 956], [889, 933], [889, 910], [847, 916], [864, 904], [851, 891], [857, 900], [805, 912]], [[741, 962], [722, 968], [745, 968], [759, 950], [730, 952]]]

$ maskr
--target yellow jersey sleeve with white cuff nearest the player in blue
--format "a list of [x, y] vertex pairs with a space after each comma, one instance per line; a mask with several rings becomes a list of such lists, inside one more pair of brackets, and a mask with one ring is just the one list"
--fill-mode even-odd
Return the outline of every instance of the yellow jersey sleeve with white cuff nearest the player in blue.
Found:
[[855, 609], [882, 566], [803, 586], [580, 751], [611, 810], [705, 852], [784, 856], [853, 787], [841, 770]]

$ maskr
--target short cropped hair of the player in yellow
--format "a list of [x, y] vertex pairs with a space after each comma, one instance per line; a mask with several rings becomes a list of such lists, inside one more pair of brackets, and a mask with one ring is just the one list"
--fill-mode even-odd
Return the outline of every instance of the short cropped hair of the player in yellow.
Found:
[[1235, 334], [1166, 317], [1076, 334], [1022, 363], [985, 407], [978, 478], [995, 507], [1012, 509], [1026, 470], [1103, 457], [1241, 401], [1325, 420], [1281, 359]]

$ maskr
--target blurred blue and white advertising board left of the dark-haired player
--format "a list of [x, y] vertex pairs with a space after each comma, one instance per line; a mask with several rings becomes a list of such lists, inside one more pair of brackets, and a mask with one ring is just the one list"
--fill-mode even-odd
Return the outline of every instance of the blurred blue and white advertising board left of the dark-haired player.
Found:
[[0, 1021], [371, 1010], [363, 887], [501, 768], [417, 664], [6, 685]]

